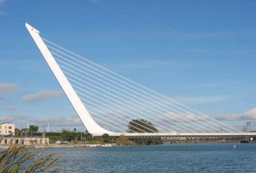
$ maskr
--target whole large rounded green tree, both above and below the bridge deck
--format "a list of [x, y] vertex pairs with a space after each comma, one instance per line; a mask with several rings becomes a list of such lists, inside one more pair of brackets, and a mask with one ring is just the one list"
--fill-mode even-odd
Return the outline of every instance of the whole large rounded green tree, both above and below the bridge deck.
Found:
[[[144, 126], [144, 127], [142, 127], [142, 126]], [[137, 127], [138, 129], [135, 127]], [[133, 119], [128, 124], [128, 129], [129, 130], [127, 132], [129, 132], [129, 133], [134, 133], [133, 131], [138, 132], [138, 133], [143, 133], [143, 131], [149, 132], [149, 133], [158, 132], [158, 130], [154, 127], [153, 124], [151, 124], [150, 122], [147, 122], [144, 119], [140, 119], [140, 120]], [[154, 145], [154, 144], [163, 144], [164, 143], [162, 138], [132, 138], [132, 140], [134, 142], [136, 142], [137, 144], [146, 144], [146, 145]]]

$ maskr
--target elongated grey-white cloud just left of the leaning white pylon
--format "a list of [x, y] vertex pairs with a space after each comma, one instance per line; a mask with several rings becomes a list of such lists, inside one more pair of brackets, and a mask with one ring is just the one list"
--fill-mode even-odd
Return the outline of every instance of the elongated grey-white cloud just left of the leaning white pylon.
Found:
[[45, 90], [45, 91], [39, 91], [34, 94], [29, 94], [25, 95], [22, 97], [22, 101], [24, 102], [39, 102], [47, 99], [52, 99], [56, 97], [60, 97], [64, 95], [63, 91], [50, 91], [50, 90]]

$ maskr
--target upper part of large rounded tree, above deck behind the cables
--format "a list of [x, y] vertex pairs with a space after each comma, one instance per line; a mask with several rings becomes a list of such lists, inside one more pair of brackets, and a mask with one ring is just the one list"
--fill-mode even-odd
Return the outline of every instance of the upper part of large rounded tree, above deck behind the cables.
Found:
[[151, 124], [150, 122], [147, 122], [147, 120], [144, 120], [144, 119], [133, 119], [132, 121], [129, 122], [128, 129], [129, 129], [127, 131], [128, 133], [134, 133], [133, 131], [137, 133], [143, 133], [143, 131], [149, 132], [149, 133], [158, 132], [158, 130], [153, 126], [153, 124]]

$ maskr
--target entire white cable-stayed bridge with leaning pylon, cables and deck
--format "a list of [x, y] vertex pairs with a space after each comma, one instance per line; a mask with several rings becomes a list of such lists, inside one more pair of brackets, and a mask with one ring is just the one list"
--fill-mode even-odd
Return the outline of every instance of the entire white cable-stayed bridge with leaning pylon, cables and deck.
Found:
[[[26, 27], [78, 117], [94, 136], [256, 136], [255, 132], [241, 132], [41, 38], [40, 32], [27, 23]], [[131, 124], [134, 119], [137, 121]], [[128, 124], [133, 130], [128, 129]]]

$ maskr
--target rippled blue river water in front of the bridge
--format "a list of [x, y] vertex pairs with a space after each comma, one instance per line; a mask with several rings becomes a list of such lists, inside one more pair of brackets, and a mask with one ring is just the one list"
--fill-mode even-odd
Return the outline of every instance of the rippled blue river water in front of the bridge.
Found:
[[256, 144], [251, 143], [49, 148], [46, 152], [64, 156], [57, 166], [62, 172], [256, 172]]

